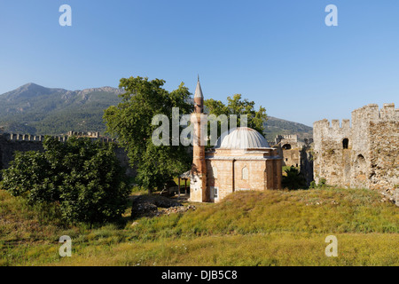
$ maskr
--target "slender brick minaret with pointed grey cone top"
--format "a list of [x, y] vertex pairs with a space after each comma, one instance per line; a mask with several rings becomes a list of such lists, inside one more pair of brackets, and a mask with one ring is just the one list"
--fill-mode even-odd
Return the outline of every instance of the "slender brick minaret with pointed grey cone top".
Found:
[[199, 76], [194, 94], [194, 113], [191, 118], [191, 122], [194, 125], [194, 141], [192, 149], [192, 178], [190, 180], [190, 200], [197, 202], [207, 201], [207, 164], [205, 162], [205, 145], [201, 143], [201, 114], [203, 113], [204, 96]]

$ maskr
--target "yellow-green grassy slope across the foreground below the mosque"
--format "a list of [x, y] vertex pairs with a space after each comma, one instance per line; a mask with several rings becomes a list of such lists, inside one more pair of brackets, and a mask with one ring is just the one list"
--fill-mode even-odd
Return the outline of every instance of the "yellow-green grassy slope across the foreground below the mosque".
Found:
[[[183, 214], [125, 225], [58, 223], [0, 191], [3, 265], [399, 265], [399, 208], [356, 189], [233, 193]], [[73, 256], [59, 256], [59, 237]], [[325, 256], [325, 237], [338, 257]]]

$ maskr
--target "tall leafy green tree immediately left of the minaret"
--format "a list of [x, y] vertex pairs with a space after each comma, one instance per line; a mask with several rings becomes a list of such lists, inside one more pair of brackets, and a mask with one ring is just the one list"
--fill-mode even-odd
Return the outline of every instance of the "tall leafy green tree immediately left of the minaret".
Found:
[[173, 107], [179, 107], [180, 114], [191, 114], [193, 110], [191, 94], [184, 83], [170, 92], [162, 88], [164, 83], [139, 76], [122, 78], [119, 87], [126, 92], [120, 95], [121, 103], [109, 106], [104, 114], [107, 132], [127, 149], [129, 163], [137, 169], [137, 182], [150, 192], [189, 170], [192, 162], [186, 147], [181, 143], [172, 146], [171, 135], [169, 146], [153, 145], [153, 131], [159, 127], [152, 125], [156, 114], [166, 115], [171, 122]]

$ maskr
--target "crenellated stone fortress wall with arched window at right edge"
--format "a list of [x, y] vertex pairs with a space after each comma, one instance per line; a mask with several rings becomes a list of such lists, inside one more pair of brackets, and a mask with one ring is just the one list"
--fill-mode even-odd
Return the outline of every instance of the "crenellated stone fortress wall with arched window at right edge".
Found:
[[369, 188], [398, 201], [399, 109], [371, 104], [348, 119], [313, 125], [314, 177], [328, 185]]

